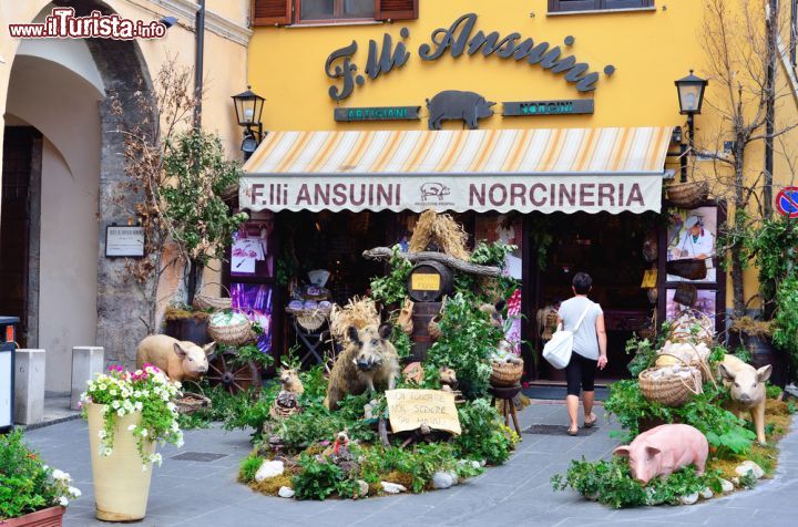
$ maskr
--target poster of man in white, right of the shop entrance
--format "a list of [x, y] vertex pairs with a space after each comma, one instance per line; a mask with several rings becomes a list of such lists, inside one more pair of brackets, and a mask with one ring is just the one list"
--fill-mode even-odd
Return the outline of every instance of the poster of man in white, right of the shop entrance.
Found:
[[707, 267], [706, 278], [687, 280], [674, 275], [667, 281], [715, 282], [715, 239], [717, 237], [717, 208], [699, 207], [692, 210], [671, 209], [671, 223], [667, 230], [668, 261], [682, 259], [704, 260]]

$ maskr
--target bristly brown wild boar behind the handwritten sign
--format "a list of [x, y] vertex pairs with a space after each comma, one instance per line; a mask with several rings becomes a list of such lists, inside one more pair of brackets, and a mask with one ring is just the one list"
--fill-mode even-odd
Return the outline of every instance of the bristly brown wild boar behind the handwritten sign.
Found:
[[349, 327], [349, 343], [336, 359], [327, 384], [325, 406], [336, 410], [347, 394], [359, 395], [375, 386], [393, 390], [400, 375], [399, 355], [388, 338], [392, 326]]

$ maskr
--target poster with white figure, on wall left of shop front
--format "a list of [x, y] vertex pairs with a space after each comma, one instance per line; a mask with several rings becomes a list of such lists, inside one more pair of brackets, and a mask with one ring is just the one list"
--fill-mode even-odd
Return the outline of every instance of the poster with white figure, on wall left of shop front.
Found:
[[273, 232], [274, 217], [268, 213], [245, 221], [233, 234], [231, 276], [274, 276], [274, 255], [269, 254]]

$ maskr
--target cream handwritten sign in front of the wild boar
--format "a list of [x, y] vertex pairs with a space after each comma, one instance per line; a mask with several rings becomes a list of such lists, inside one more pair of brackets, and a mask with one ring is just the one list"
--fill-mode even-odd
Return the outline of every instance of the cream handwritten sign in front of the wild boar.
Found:
[[426, 424], [460, 435], [460, 418], [454, 394], [438, 390], [388, 390], [388, 416], [393, 433], [408, 432]]

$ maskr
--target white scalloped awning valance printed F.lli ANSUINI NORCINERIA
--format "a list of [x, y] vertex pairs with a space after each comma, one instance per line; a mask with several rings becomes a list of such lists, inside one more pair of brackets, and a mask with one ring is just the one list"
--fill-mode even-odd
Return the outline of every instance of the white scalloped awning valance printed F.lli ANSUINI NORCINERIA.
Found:
[[659, 210], [662, 175], [576, 176], [248, 176], [249, 210], [412, 210], [644, 213]]

